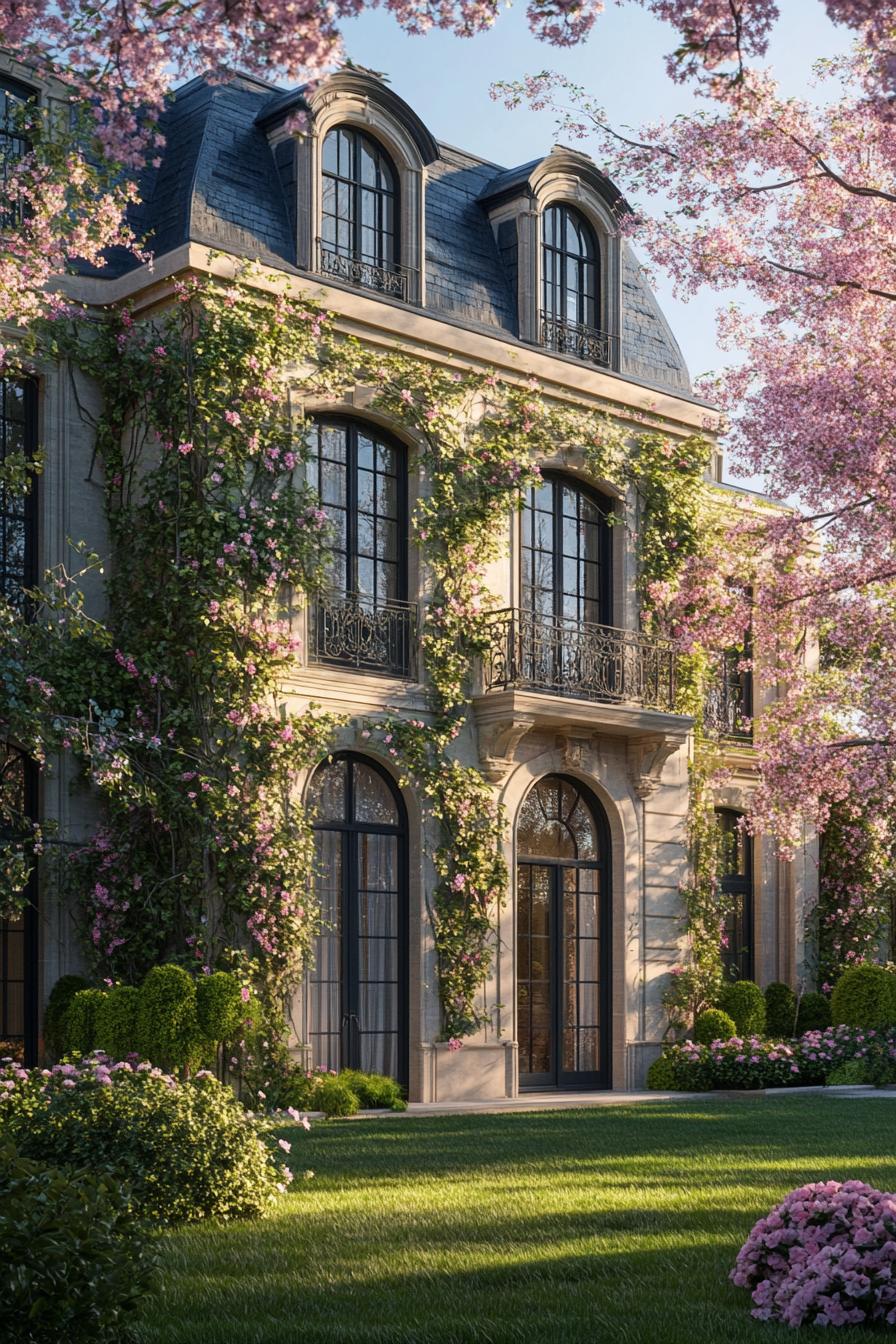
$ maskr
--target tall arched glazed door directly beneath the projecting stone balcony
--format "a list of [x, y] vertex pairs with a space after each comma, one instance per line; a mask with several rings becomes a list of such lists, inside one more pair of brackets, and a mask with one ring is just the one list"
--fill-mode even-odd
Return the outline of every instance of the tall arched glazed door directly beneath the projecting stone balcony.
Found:
[[610, 843], [598, 800], [539, 780], [516, 827], [521, 1087], [610, 1086]]

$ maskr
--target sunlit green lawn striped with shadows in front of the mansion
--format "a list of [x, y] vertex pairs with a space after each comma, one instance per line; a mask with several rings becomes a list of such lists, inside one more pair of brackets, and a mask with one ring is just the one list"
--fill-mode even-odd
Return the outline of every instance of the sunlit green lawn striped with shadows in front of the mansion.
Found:
[[803, 1095], [283, 1130], [278, 1214], [168, 1234], [140, 1341], [783, 1344], [737, 1249], [805, 1181], [896, 1188], [895, 1122]]

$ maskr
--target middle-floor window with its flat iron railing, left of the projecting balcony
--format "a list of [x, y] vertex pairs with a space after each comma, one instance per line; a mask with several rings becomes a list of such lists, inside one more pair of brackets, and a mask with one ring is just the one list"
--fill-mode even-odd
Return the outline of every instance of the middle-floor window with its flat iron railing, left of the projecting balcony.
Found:
[[369, 425], [312, 429], [312, 484], [329, 527], [314, 655], [410, 675], [415, 610], [407, 602], [407, 453]]

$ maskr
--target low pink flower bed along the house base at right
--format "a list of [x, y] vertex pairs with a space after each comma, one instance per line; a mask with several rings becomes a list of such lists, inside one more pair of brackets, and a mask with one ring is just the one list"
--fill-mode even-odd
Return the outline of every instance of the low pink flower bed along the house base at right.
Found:
[[896, 1071], [896, 1030], [827, 1027], [790, 1042], [732, 1036], [701, 1046], [685, 1040], [664, 1051], [664, 1073], [657, 1074], [662, 1082], [657, 1086], [680, 1091], [806, 1087], [826, 1082], [849, 1060], [866, 1064], [868, 1077], [876, 1082], [888, 1081]]

